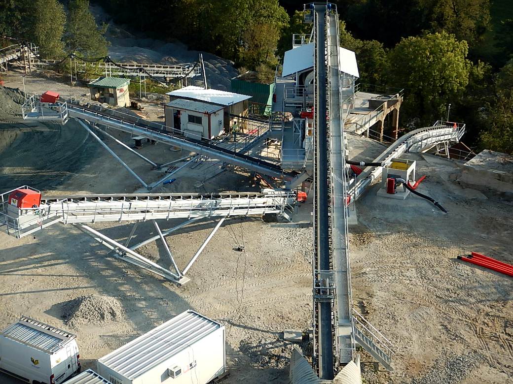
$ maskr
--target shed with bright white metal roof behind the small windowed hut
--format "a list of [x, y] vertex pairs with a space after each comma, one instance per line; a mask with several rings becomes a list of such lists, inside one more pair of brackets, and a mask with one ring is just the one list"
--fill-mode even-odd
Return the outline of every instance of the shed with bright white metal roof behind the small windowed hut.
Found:
[[[180, 100], [188, 100], [188, 101], [195, 101], [195, 102], [201, 102], [204, 104], [210, 104], [215, 106], [221, 106], [223, 109], [223, 128], [225, 132], [229, 132], [230, 126], [234, 121], [238, 121], [241, 123], [241, 119], [238, 119], [237, 117], [247, 117], [248, 116], [248, 106], [249, 106], [249, 99], [251, 96], [248, 95], [241, 95], [238, 93], [233, 92], [226, 92], [216, 89], [204, 89], [201, 87], [195, 87], [195, 86], [188, 86], [181, 88], [179, 90], [175, 90], [172, 92], [166, 93], [166, 95], [169, 95], [169, 101], [172, 102], [174, 100], [180, 99]], [[185, 105], [185, 104], [184, 104]], [[182, 126], [182, 118], [181, 118], [181, 111], [177, 108], [174, 108], [173, 112], [167, 112], [168, 109], [172, 109], [173, 107], [170, 105], [166, 105], [166, 116], [171, 113], [172, 116], [173, 113], [179, 112], [180, 115], [180, 125], [174, 125], [174, 123], [178, 123], [179, 121], [173, 119], [168, 120], [166, 118], [166, 125], [171, 126], [173, 128], [179, 129], [178, 127]], [[191, 110], [189, 110], [191, 111]], [[172, 125], [168, 125], [171, 123]], [[242, 125], [242, 124], [241, 124]], [[212, 132], [215, 132], [213, 130]], [[221, 133], [221, 131], [220, 131]], [[215, 135], [214, 135], [215, 136]], [[206, 137], [206, 136], [204, 136]]]

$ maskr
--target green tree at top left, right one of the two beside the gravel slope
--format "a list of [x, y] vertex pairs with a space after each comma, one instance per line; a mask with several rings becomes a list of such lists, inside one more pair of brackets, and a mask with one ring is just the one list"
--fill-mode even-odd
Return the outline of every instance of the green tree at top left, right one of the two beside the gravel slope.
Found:
[[106, 56], [108, 42], [104, 37], [107, 26], [98, 28], [89, 12], [89, 0], [70, 0], [66, 26], [66, 50], [85, 57]]

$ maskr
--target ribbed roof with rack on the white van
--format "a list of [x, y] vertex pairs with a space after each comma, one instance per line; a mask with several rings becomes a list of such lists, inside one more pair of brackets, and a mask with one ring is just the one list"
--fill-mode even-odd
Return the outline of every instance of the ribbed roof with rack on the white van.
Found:
[[76, 337], [62, 329], [38, 322], [29, 317], [22, 317], [19, 321], [4, 329], [0, 334], [48, 353], [60, 350], [63, 345]]

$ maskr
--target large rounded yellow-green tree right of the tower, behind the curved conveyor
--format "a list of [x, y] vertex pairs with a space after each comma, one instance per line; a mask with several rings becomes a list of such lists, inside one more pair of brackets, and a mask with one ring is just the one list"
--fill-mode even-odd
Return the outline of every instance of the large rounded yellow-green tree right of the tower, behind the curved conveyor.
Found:
[[406, 90], [403, 118], [429, 124], [443, 116], [467, 87], [467, 54], [467, 42], [446, 32], [403, 38], [390, 51], [388, 70], [390, 84]]

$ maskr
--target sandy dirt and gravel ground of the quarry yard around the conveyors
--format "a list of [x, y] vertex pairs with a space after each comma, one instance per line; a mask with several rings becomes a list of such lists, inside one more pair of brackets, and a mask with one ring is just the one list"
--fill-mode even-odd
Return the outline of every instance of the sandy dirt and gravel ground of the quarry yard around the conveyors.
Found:
[[[6, 86], [19, 87], [17, 81], [16, 75], [8, 76]], [[39, 88], [35, 81], [29, 85], [33, 92], [61, 86], [50, 80], [42, 80]], [[62, 87], [63, 93], [73, 92]], [[19, 127], [8, 124], [19, 135]], [[70, 124], [40, 127], [37, 135], [27, 130], [0, 145], [0, 190], [22, 183], [37, 183], [34, 186], [48, 195], [120, 193], [139, 187], [91, 137], [84, 138]], [[56, 133], [62, 141], [50, 139]], [[129, 143], [128, 135], [117, 135]], [[35, 136], [48, 141], [35, 145]], [[359, 160], [384, 149], [353, 136], [349, 143], [351, 156]], [[161, 171], [123, 151], [120, 155], [145, 180], [162, 177]], [[145, 145], [141, 153], [160, 162], [185, 156], [161, 144]], [[48, 156], [54, 161], [45, 160]], [[369, 384], [506, 383], [513, 377], [513, 280], [464, 264], [457, 255], [478, 251], [513, 262], [513, 203], [451, 181], [458, 162], [408, 156], [417, 160], [419, 176], [428, 175], [419, 190], [435, 197], [449, 213], [418, 197], [409, 196], [404, 202], [378, 198], [377, 185], [352, 212], [359, 221], [350, 227], [353, 305], [394, 344], [396, 353], [393, 372], [367, 366], [364, 378]], [[198, 176], [181, 173], [177, 182], [161, 190], [255, 189], [242, 172], [224, 172], [201, 187]], [[300, 216], [309, 217], [310, 210], [311, 205], [303, 205]], [[161, 226], [177, 223], [162, 221]], [[179, 266], [189, 261], [214, 225], [215, 221], [199, 221], [167, 238]], [[92, 226], [116, 240], [126, 239], [131, 229], [130, 223]], [[133, 241], [144, 240], [153, 231], [152, 223], [142, 223]], [[245, 252], [234, 251], [238, 245], [244, 245]], [[86, 294], [115, 297], [123, 306], [125, 321], [69, 329], [77, 334], [83, 367], [89, 368], [95, 366], [95, 359], [192, 308], [226, 326], [230, 375], [224, 382], [285, 383], [291, 347], [283, 342], [282, 332], [311, 326], [310, 249], [307, 223], [232, 218], [190, 269], [191, 282], [176, 287], [109, 257], [106, 248], [73, 226], [54, 225], [20, 240], [0, 233], [0, 328], [28, 315], [67, 329], [63, 303]], [[141, 248], [141, 253], [169, 265], [158, 242]], [[468, 365], [458, 380], [441, 376], [433, 381], [430, 372], [443, 367], [447, 356], [473, 356], [476, 365]], [[364, 362], [371, 360], [365, 352], [362, 357]], [[0, 382], [17, 381], [0, 375]]]

